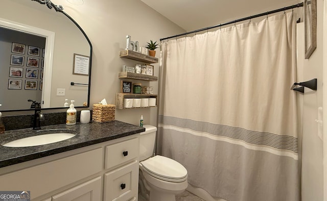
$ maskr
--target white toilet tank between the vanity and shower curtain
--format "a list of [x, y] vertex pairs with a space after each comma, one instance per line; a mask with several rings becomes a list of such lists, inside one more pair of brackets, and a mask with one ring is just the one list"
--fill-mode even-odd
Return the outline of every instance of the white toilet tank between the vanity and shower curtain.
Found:
[[143, 125], [145, 132], [139, 135], [139, 161], [150, 158], [154, 153], [157, 128], [153, 125]]

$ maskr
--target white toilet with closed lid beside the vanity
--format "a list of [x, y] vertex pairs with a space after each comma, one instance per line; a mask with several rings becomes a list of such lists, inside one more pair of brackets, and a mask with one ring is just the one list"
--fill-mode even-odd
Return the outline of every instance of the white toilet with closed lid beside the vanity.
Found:
[[[175, 201], [175, 195], [188, 187], [188, 171], [173, 159], [153, 156], [157, 128], [143, 127], [146, 131], [139, 136], [139, 191], [150, 201]], [[146, 191], [149, 196], [144, 195]]]

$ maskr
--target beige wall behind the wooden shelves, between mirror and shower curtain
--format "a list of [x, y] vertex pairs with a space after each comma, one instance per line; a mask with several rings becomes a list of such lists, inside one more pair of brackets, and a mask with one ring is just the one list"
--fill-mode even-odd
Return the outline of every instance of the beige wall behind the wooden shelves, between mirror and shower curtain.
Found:
[[[108, 104], [114, 104], [116, 92], [120, 92], [118, 72], [123, 65], [135, 65], [137, 61], [119, 57], [119, 51], [126, 47], [126, 35], [132, 41], [145, 46], [147, 41], [160, 42], [160, 38], [183, 33], [167, 18], [159, 15], [141, 1], [84, 1], [82, 6], [73, 6], [66, 1], [53, 1], [61, 4], [64, 11], [73, 17], [82, 27], [93, 45], [90, 104], [106, 98]], [[159, 57], [159, 49], [156, 49]], [[158, 76], [158, 64], [154, 65], [154, 75]], [[132, 81], [136, 82], [136, 81]], [[138, 82], [138, 81], [137, 81]], [[157, 82], [141, 82], [154, 86]], [[143, 115], [144, 124], [156, 125], [157, 108], [116, 110], [116, 120], [139, 124]]]

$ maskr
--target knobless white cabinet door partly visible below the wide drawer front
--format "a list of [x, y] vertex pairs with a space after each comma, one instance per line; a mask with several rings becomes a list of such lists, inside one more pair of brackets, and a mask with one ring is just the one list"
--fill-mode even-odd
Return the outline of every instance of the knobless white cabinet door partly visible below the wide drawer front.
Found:
[[101, 177], [52, 196], [52, 201], [97, 201], [101, 200]]

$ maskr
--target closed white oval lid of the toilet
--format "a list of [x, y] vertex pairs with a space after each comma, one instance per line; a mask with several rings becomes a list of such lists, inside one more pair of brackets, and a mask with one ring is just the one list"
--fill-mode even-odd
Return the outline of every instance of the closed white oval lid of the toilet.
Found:
[[149, 172], [168, 179], [183, 179], [188, 175], [188, 171], [177, 161], [164, 156], [154, 156], [141, 164]]

